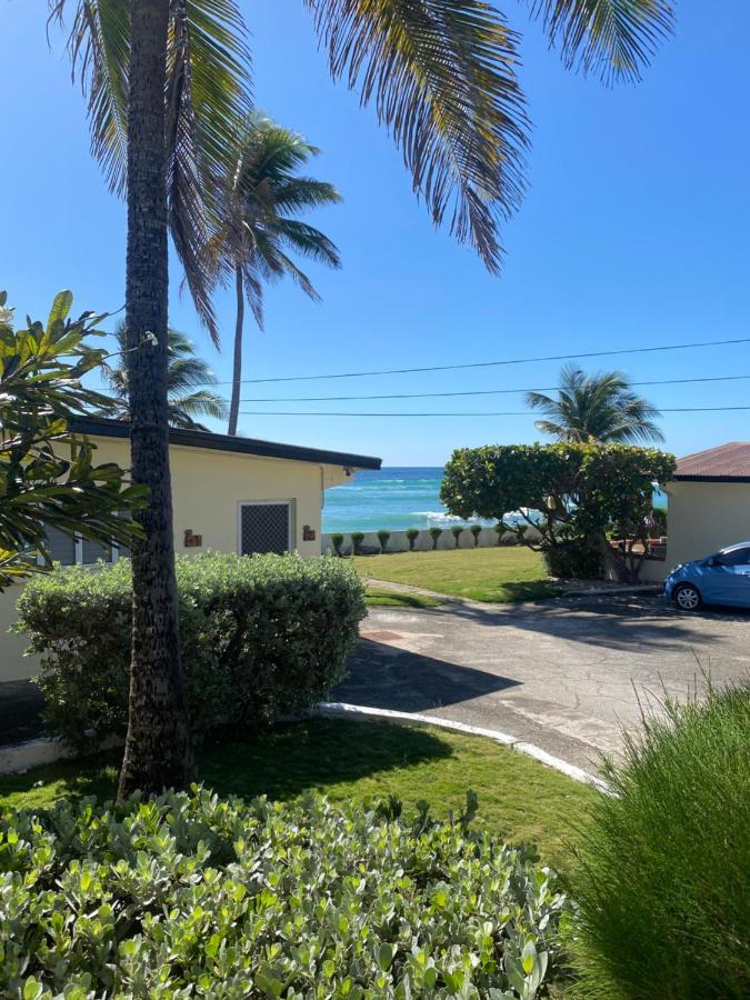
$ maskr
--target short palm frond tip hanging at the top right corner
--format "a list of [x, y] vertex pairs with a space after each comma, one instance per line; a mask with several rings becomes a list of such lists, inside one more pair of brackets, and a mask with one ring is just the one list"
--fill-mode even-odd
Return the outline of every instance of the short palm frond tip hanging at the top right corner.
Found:
[[531, 14], [567, 68], [596, 73], [606, 83], [640, 80], [673, 30], [669, 0], [533, 0]]

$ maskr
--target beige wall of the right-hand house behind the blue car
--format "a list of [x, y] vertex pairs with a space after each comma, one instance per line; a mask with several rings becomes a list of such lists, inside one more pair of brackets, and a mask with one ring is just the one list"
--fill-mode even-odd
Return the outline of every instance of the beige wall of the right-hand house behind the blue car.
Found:
[[670, 482], [667, 569], [750, 539], [750, 483]]

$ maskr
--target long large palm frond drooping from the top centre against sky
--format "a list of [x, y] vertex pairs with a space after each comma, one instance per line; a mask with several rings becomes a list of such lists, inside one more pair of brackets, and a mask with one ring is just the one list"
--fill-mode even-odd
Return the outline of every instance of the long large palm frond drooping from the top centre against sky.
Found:
[[528, 120], [518, 36], [481, 0], [304, 0], [334, 80], [374, 103], [436, 226], [501, 262], [518, 207]]

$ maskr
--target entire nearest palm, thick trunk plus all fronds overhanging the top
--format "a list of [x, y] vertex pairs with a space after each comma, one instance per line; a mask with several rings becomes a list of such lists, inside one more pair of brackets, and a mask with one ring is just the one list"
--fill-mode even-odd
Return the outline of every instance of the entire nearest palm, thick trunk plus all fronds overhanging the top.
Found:
[[[247, 114], [236, 0], [50, 0], [77, 11], [71, 53], [89, 88], [92, 150], [126, 189], [132, 476], [151, 489], [133, 553], [129, 728], [120, 798], [191, 773], [179, 657], [167, 404], [167, 240], [216, 336], [206, 247], [227, 131]], [[334, 79], [374, 104], [436, 224], [491, 271], [498, 223], [523, 189], [528, 121], [518, 36], [482, 0], [302, 0]], [[634, 80], [671, 30], [668, 0], [534, 0], [567, 66]], [[148, 336], [151, 334], [151, 336]], [[154, 343], [156, 341], [156, 343]]]

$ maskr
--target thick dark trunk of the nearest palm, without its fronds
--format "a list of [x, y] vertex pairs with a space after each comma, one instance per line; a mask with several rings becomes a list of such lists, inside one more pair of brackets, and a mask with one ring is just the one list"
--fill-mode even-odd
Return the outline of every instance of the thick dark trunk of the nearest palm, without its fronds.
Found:
[[[126, 323], [132, 479], [150, 488], [133, 547], [130, 701], [118, 800], [192, 777], [180, 664], [167, 408], [164, 81], [169, 0], [130, 0]], [[158, 343], [149, 346], [147, 332]]]

